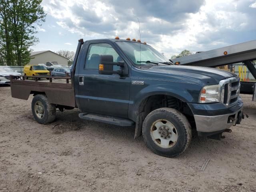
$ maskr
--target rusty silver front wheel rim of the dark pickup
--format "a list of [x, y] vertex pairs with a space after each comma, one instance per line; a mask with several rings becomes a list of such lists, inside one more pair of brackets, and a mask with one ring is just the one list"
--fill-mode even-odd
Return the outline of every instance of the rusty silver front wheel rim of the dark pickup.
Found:
[[159, 119], [152, 123], [150, 135], [152, 140], [162, 148], [171, 148], [178, 140], [175, 126], [165, 119]]

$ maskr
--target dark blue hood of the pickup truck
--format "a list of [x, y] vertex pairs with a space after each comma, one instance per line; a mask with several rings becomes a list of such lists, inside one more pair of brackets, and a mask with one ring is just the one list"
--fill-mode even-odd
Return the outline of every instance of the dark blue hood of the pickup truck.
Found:
[[[200, 84], [218, 84], [220, 80], [236, 76], [236, 74], [208, 67], [198, 66], [153, 66], [149, 71], [168, 75], [173, 80], [178, 79], [185, 82]], [[166, 78], [166, 77], [165, 77]]]

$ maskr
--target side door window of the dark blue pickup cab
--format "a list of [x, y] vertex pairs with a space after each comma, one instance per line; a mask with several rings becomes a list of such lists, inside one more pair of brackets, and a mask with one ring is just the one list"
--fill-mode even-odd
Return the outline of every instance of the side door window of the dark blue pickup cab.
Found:
[[[86, 56], [85, 69], [98, 70], [101, 55], [113, 56], [113, 62], [119, 62], [123, 59], [118, 55], [114, 48], [107, 43], [90, 44]], [[113, 70], [119, 70], [119, 66], [113, 66]]]

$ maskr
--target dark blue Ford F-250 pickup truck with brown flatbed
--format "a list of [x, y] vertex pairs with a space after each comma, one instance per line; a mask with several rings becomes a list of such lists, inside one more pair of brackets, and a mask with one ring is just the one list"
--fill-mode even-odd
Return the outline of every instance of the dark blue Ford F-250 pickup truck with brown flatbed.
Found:
[[[55, 78], [56, 79], [56, 78]], [[220, 139], [243, 118], [239, 78], [213, 68], [178, 66], [139, 40], [79, 40], [67, 83], [11, 80], [12, 96], [32, 100], [39, 123], [56, 108], [79, 108], [79, 117], [136, 126], [156, 154], [173, 157], [188, 148], [192, 129]]]

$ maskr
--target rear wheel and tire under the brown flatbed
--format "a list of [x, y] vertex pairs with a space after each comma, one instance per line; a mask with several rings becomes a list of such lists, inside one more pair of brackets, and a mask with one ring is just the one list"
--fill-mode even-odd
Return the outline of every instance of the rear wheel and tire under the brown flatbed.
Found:
[[34, 96], [31, 108], [35, 120], [40, 124], [51, 123], [56, 118], [56, 106], [49, 103], [46, 95], [38, 94]]

